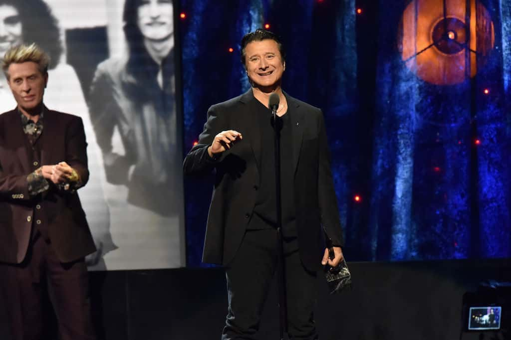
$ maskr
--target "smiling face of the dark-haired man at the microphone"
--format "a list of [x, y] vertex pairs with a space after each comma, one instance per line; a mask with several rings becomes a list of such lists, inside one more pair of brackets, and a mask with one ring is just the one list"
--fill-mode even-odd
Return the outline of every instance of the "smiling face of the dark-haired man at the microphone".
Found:
[[264, 92], [281, 86], [286, 64], [275, 40], [249, 42], [245, 47], [245, 68], [253, 87]]

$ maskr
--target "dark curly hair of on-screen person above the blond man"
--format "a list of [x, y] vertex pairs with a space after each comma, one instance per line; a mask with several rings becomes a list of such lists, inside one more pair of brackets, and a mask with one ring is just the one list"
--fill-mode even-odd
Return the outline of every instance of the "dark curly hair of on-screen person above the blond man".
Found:
[[62, 54], [62, 41], [57, 19], [42, 0], [0, 0], [1, 5], [14, 7], [21, 21], [23, 43], [36, 43], [50, 55], [50, 68], [57, 66]]

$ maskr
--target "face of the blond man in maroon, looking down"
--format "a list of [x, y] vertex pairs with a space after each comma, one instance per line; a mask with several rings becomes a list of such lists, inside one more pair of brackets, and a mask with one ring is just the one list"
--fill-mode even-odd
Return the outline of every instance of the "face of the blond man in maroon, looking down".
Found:
[[32, 112], [42, 103], [48, 74], [42, 74], [35, 62], [12, 63], [7, 70], [8, 83], [18, 108]]

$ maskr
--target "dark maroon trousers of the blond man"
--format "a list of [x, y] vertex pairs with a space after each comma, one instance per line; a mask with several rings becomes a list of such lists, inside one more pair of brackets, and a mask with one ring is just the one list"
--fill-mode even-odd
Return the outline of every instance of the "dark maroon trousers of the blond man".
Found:
[[[45, 340], [44, 310], [50, 284], [60, 340], [95, 340], [91, 323], [88, 274], [83, 259], [61, 263], [51, 242], [36, 231], [26, 259], [0, 263], [0, 294], [7, 309], [12, 340]], [[51, 334], [53, 338], [55, 334]]]

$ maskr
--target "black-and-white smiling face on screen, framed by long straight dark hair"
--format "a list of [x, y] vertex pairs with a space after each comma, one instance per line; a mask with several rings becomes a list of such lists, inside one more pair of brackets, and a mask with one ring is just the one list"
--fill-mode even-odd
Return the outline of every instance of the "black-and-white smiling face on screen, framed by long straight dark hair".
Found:
[[137, 9], [137, 26], [144, 38], [164, 40], [174, 32], [172, 0], [142, 0]]

